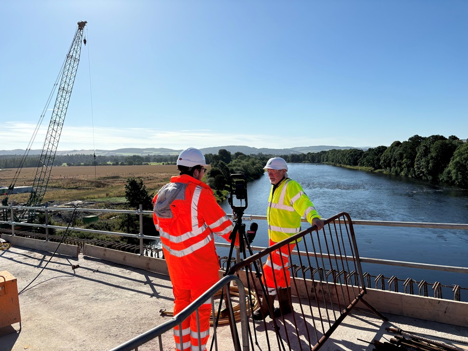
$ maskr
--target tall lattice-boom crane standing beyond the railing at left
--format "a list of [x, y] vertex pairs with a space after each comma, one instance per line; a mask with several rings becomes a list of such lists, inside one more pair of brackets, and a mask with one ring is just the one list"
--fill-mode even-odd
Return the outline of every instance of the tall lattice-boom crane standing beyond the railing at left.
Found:
[[[71, 90], [73, 88], [73, 82], [76, 76], [76, 70], [80, 62], [81, 43], [83, 42], [86, 45], [86, 38], [83, 40], [83, 30], [86, 24], [86, 21], [78, 22], [73, 41], [65, 60], [62, 76], [60, 79], [59, 91], [57, 92], [57, 97], [55, 99], [55, 104], [52, 111], [52, 117], [50, 119], [44, 146], [38, 159], [32, 190], [26, 206], [39, 205], [44, 198], [47, 184], [49, 183], [50, 172], [52, 170], [57, 146], [59, 145], [60, 134], [62, 132], [62, 127], [65, 120], [65, 114], [67, 113]], [[26, 158], [28, 152], [29, 149], [26, 150], [23, 159]], [[24, 161], [19, 165], [19, 169], [21, 169], [23, 163]], [[18, 178], [18, 175], [19, 172], [17, 171], [15, 178], [8, 187], [8, 192], [5, 194], [5, 198], [2, 201], [4, 206], [7, 206], [8, 197], [14, 189], [14, 184]], [[19, 221], [25, 217], [25, 212], [26, 211], [18, 216]], [[29, 216], [34, 216], [34, 211], [30, 211]]]

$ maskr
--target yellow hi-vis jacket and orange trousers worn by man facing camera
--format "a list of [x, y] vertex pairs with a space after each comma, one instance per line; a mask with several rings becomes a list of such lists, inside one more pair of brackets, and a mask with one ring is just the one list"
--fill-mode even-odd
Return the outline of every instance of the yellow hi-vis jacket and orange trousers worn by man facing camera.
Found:
[[[266, 217], [269, 246], [300, 232], [301, 217], [307, 219], [309, 223], [312, 223], [314, 218], [320, 218], [301, 185], [290, 178], [285, 178], [271, 187]], [[296, 242], [289, 243], [289, 250], [293, 250], [295, 246]], [[268, 255], [263, 265], [264, 282], [269, 295], [276, 295], [275, 282], [282, 288], [290, 285], [289, 250], [287, 246], [283, 246], [271, 252], [271, 258]]]

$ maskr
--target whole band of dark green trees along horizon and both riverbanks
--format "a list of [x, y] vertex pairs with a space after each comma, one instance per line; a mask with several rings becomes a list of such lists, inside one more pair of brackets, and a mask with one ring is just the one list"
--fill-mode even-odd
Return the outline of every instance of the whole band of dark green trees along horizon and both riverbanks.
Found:
[[[280, 156], [288, 163], [326, 163], [360, 167], [369, 171], [404, 175], [431, 183], [447, 183], [468, 188], [468, 144], [457, 136], [445, 138], [442, 135], [428, 137], [414, 135], [407, 141], [395, 141], [389, 147], [378, 146], [366, 151], [361, 149], [333, 149], [285, 155], [231, 153], [220, 149], [217, 154], [205, 155], [210, 164], [207, 184], [222, 198], [229, 184], [229, 176], [243, 173], [247, 181], [258, 179], [263, 174], [266, 161]], [[0, 168], [16, 168], [21, 155], [0, 155]], [[37, 167], [38, 156], [26, 159], [24, 167]], [[103, 156], [94, 158], [89, 154], [56, 155], [54, 165], [140, 165], [152, 162], [175, 164], [174, 155], [131, 155]]]

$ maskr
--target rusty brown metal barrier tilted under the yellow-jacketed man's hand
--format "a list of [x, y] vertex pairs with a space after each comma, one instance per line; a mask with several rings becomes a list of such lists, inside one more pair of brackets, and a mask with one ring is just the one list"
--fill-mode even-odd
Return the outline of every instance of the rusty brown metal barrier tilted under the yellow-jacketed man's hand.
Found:
[[[284, 316], [266, 317], [260, 322], [249, 319], [249, 333], [253, 334], [255, 344], [259, 344], [257, 334], [260, 334], [262, 343], [266, 339], [270, 350], [318, 350], [359, 301], [379, 318], [387, 320], [363, 298], [366, 285], [349, 214], [338, 213], [324, 223], [322, 230], [317, 231], [317, 227], [312, 226], [255, 253], [227, 272], [227, 275], [237, 275], [259, 296], [270, 296], [257, 270], [263, 277], [263, 264], [268, 258], [271, 260], [272, 252], [288, 247], [289, 264], [283, 261], [281, 271], [291, 278], [289, 301], [294, 311]], [[294, 249], [289, 243], [296, 243]], [[298, 275], [298, 271], [301, 274]], [[275, 280], [277, 296], [278, 289]], [[275, 295], [271, 287], [270, 291]], [[250, 306], [253, 313], [253, 304]], [[253, 339], [250, 338], [252, 343]]]

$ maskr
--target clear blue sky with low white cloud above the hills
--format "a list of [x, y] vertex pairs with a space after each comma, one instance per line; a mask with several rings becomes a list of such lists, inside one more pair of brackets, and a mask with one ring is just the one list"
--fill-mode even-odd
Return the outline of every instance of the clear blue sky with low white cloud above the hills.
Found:
[[465, 0], [4, 0], [0, 10], [0, 149], [27, 147], [79, 21], [88, 44], [59, 150], [468, 134]]

